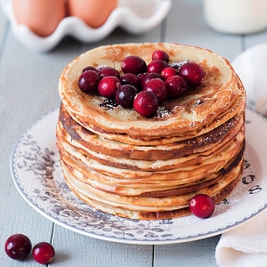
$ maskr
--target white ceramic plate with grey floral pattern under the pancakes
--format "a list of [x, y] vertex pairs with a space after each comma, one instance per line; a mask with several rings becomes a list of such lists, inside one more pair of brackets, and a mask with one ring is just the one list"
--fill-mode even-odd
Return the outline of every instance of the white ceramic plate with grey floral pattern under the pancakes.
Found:
[[[64, 182], [55, 146], [58, 109], [23, 134], [12, 153], [12, 178], [30, 206], [61, 226], [96, 239], [132, 244], [171, 244], [229, 231], [267, 205], [267, 120], [247, 110], [247, 148], [243, 179], [212, 217], [190, 215], [155, 222], [102, 213], [77, 199]], [[263, 134], [265, 133], [265, 134]]]

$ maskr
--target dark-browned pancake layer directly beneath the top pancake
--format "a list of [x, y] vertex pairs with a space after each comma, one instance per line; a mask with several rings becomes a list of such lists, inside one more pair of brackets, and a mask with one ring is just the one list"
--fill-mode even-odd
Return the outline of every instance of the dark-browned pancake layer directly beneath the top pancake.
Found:
[[117, 158], [161, 160], [180, 158], [193, 153], [203, 152], [213, 148], [219, 142], [227, 142], [239, 133], [244, 125], [244, 113], [231, 117], [230, 120], [214, 128], [212, 131], [191, 138], [183, 142], [174, 142], [162, 146], [133, 145], [125, 142], [103, 138], [85, 129], [69, 116], [68, 111], [61, 104], [59, 114], [59, 131], [68, 142], [77, 143], [76, 147], [93, 150], [101, 154]]

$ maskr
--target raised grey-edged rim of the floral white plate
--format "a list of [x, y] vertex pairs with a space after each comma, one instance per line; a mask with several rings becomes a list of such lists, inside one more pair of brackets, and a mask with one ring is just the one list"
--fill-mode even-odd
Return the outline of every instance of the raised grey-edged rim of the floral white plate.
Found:
[[[203, 236], [205, 236], [205, 237], [206, 236], [212, 236], [214, 233], [215, 234], [220, 234], [221, 232], [226, 231], [229, 228], [232, 228], [232, 226], [238, 226], [240, 223], [245, 223], [253, 215], [260, 213], [267, 206], [267, 203], [264, 203], [263, 206], [259, 206], [259, 208], [255, 209], [255, 211], [252, 212], [251, 214], [247, 214], [246, 216], [244, 216], [242, 218], [239, 218], [238, 221], [233, 222], [233, 223], [228, 223], [228, 224], [226, 224], [226, 225], [224, 225], [222, 227], [214, 228], [213, 230], [209, 230], [209, 231], [198, 232], [196, 234], [179, 236], [179, 237], [174, 237], [172, 235], [167, 235], [166, 234], [166, 237], [164, 237], [164, 238], [162, 238], [161, 236], [157, 236], [155, 238], [155, 235], [153, 235], [153, 233], [152, 233], [151, 236], [148, 236], [145, 239], [144, 238], [138, 239], [138, 238], [136, 238], [136, 236], [134, 237], [134, 235], [131, 235], [131, 234], [129, 234], [129, 235], [125, 234], [124, 237], [121, 237], [119, 235], [114, 235], [114, 233], [113, 234], [112, 233], [109, 234], [109, 232], [103, 232], [103, 231], [95, 231], [95, 230], [94, 231], [90, 231], [90, 232], [85, 231], [85, 230], [81, 231], [82, 228], [78, 228], [76, 224], [69, 224], [68, 220], [64, 220], [64, 218], [59, 218], [59, 216], [56, 216], [55, 214], [51, 213], [51, 211], [46, 209], [45, 206], [40, 205], [34, 198], [32, 198], [30, 196], [29, 192], [22, 185], [18, 173], [13, 168], [13, 165], [15, 164], [15, 160], [14, 159], [17, 157], [16, 153], [17, 153], [17, 150], [19, 148], [20, 142], [23, 140], [23, 138], [26, 138], [26, 135], [29, 134], [32, 131], [32, 129], [36, 127], [36, 125], [40, 124], [46, 117], [52, 116], [53, 113], [55, 113], [55, 112], [58, 112], [58, 108], [53, 109], [53, 111], [50, 111], [49, 113], [45, 114], [43, 117], [39, 118], [36, 121], [36, 123], [31, 125], [28, 128], [28, 130], [24, 134], [22, 134], [20, 136], [20, 139], [17, 142], [17, 144], [15, 146], [15, 149], [12, 152], [12, 162], [11, 163], [12, 163], [12, 177], [13, 177], [13, 180], [14, 180], [18, 190], [20, 190], [20, 189], [23, 190], [23, 194], [21, 194], [21, 195], [28, 201], [28, 203], [30, 205], [34, 204], [34, 206], [37, 206], [40, 209], [42, 209], [46, 214], [44, 214], [44, 212], [40, 212], [40, 211], [39, 212], [41, 214], [43, 214], [45, 217], [48, 217], [48, 219], [51, 219], [51, 218], [47, 214], [51, 214], [53, 216], [53, 222], [54, 223], [59, 223], [63, 227], [66, 227], [66, 225], [64, 225], [64, 223], [67, 223], [69, 225], [69, 227], [67, 227], [67, 228], [69, 228], [69, 229], [71, 229], [73, 231], [78, 231], [78, 232], [80, 232], [82, 234], [87, 234], [88, 236], [93, 236], [94, 238], [100, 238], [100, 237], [97, 237], [97, 236], [94, 236], [94, 235], [90, 234], [90, 232], [93, 232], [96, 235], [101, 235], [101, 236], [104, 235], [108, 239], [110, 238], [111, 241], [117, 241], [117, 242], [122, 242], [122, 240], [125, 239], [125, 242], [130, 240], [131, 242], [134, 242], [134, 243], [141, 242], [142, 244], [148, 244], [148, 243], [150, 243], [150, 244], [178, 243], [180, 241], [184, 242], [184, 241], [194, 240], [194, 239], [197, 239], [197, 238], [199, 239], [199, 238], [201, 238]], [[253, 110], [252, 110], [252, 112], [255, 113], [255, 111], [253, 111]], [[257, 116], [261, 117], [260, 114], [257, 114]], [[21, 193], [21, 190], [20, 190], [20, 193]], [[62, 223], [62, 222], [64, 222], [64, 223]], [[152, 230], [150, 229], [150, 231], [152, 231]]]

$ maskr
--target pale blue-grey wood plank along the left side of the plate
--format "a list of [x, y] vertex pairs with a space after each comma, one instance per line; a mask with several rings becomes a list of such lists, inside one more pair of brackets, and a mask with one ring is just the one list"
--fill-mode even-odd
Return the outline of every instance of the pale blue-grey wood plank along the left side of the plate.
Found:
[[[68, 46], [68, 45], [67, 45]], [[21, 198], [12, 182], [10, 157], [20, 135], [44, 113], [58, 107], [58, 77], [75, 53], [69, 45], [49, 54], [23, 47], [9, 31], [0, 58], [0, 240], [24, 233], [33, 245], [50, 241], [53, 223]], [[51, 129], [53, 130], [53, 129]], [[16, 262], [0, 250], [1, 266], [36, 266], [31, 256]]]

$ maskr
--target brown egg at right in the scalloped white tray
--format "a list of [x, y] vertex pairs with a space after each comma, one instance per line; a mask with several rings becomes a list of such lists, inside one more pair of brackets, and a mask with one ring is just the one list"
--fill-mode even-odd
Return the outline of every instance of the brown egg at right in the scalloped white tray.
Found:
[[67, 0], [69, 16], [76, 16], [92, 28], [99, 28], [117, 7], [117, 0]]

